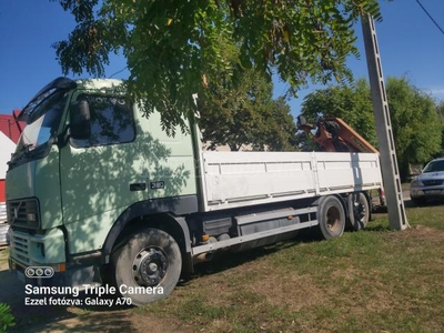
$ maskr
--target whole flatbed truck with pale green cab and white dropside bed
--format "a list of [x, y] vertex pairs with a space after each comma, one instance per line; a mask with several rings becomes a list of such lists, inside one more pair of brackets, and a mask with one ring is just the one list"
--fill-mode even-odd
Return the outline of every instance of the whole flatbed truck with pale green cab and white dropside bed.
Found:
[[[376, 153], [203, 151], [193, 117], [189, 131], [168, 135], [160, 114], [144, 117], [120, 84], [59, 78], [19, 117], [9, 266], [27, 284], [162, 290], [128, 295], [143, 305], [215, 252], [305, 228], [337, 238], [369, 221], [369, 191], [382, 188]], [[53, 275], [29, 276], [30, 268]]]

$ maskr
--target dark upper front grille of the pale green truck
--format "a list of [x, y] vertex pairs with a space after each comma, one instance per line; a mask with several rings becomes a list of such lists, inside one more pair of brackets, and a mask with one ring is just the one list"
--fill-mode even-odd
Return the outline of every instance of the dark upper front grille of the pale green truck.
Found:
[[36, 198], [7, 201], [8, 223], [12, 226], [39, 229], [40, 210]]

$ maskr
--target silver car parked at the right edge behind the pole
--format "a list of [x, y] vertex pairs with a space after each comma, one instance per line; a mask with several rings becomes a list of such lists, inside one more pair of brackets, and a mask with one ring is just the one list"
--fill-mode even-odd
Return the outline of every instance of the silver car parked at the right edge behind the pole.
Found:
[[430, 161], [412, 180], [410, 198], [417, 205], [424, 204], [428, 199], [444, 199], [444, 158]]

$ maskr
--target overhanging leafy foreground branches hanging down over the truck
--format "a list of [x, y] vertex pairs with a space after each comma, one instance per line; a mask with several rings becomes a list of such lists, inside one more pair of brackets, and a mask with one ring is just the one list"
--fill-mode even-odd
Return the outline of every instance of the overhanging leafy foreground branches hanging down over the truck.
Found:
[[[67, 40], [54, 43], [63, 72], [101, 77], [110, 52], [128, 62], [129, 93], [155, 107], [163, 125], [183, 124], [218, 74], [231, 80], [250, 68], [270, 79], [273, 70], [289, 93], [309, 80], [351, 79], [349, 54], [357, 54], [353, 23], [360, 14], [380, 17], [377, 0], [52, 0], [77, 21]], [[240, 47], [235, 65], [221, 57], [220, 40]]]

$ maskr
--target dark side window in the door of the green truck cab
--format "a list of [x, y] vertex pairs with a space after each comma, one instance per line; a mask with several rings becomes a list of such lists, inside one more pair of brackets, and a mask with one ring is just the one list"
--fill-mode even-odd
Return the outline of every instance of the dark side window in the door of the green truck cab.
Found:
[[71, 140], [77, 148], [123, 143], [134, 140], [132, 104], [122, 97], [81, 94], [91, 113], [91, 137], [88, 140]]

